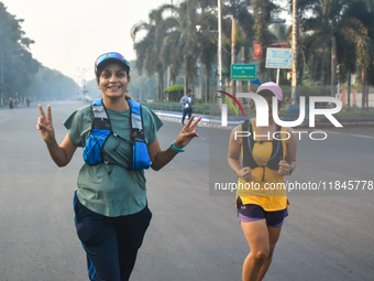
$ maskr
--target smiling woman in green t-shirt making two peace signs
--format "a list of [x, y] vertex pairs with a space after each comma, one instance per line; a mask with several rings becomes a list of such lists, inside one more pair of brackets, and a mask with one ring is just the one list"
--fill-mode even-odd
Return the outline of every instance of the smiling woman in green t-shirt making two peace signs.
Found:
[[51, 106], [45, 114], [38, 105], [36, 128], [58, 166], [67, 165], [78, 147], [85, 148], [74, 212], [88, 277], [91, 281], [127, 281], [152, 217], [144, 169], [158, 171], [184, 152], [198, 137], [195, 127], [201, 117], [194, 121], [193, 116], [175, 141], [161, 150], [157, 131], [162, 121], [127, 94], [130, 63], [119, 53], [106, 53], [97, 58], [95, 73], [102, 98], [66, 119], [67, 134], [59, 145]]

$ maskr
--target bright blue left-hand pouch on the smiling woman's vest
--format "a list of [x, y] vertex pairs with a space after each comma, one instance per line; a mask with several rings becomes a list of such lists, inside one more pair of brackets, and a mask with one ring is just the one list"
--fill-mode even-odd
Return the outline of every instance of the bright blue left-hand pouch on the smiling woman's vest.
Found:
[[110, 130], [92, 129], [84, 150], [84, 159], [87, 164], [95, 165], [102, 162], [101, 148], [109, 134]]

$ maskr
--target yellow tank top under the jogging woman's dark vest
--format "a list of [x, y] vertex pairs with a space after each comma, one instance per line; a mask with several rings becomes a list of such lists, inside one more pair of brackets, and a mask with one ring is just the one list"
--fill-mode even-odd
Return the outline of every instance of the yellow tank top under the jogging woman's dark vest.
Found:
[[[255, 133], [254, 121], [252, 120], [253, 132]], [[282, 132], [286, 132], [287, 128], [283, 127]], [[287, 155], [287, 145], [285, 133], [280, 134], [284, 159]], [[252, 138], [252, 137], [251, 137]], [[255, 136], [255, 141], [260, 141], [261, 138]], [[273, 139], [271, 139], [273, 140]], [[272, 141], [263, 142], [262, 144], [254, 143], [253, 159], [257, 163], [257, 167], [252, 171], [253, 180], [246, 182], [239, 177], [237, 186], [237, 196], [240, 196], [242, 203], [260, 205], [266, 212], [274, 212], [285, 209], [287, 207], [288, 199], [285, 188], [285, 177], [278, 173], [268, 169], [266, 165], [267, 159], [273, 154]], [[243, 148], [241, 150], [243, 156]], [[263, 167], [264, 166], [264, 167]]]

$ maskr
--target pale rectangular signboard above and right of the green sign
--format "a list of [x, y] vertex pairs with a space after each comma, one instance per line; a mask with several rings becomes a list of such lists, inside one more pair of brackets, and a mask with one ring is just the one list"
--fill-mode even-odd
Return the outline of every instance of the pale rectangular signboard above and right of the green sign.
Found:
[[267, 47], [266, 65], [267, 68], [292, 68], [293, 50], [280, 47]]

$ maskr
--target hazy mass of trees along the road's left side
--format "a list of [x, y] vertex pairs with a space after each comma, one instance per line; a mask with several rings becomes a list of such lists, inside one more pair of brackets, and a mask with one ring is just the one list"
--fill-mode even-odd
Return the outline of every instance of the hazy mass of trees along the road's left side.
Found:
[[63, 74], [44, 67], [32, 57], [33, 40], [25, 36], [24, 20], [7, 11], [0, 2], [0, 93], [21, 102], [25, 98], [66, 99], [74, 96], [76, 83]]

